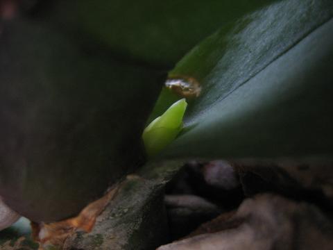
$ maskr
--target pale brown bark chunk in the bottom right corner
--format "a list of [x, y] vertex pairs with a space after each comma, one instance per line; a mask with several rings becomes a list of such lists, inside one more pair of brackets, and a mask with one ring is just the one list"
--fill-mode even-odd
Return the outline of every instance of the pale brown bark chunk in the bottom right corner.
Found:
[[[210, 228], [219, 224], [227, 226], [211, 233]], [[329, 250], [333, 246], [333, 224], [321, 210], [274, 194], [246, 199], [234, 215], [219, 217], [192, 235], [158, 250], [310, 250], [318, 246]]]

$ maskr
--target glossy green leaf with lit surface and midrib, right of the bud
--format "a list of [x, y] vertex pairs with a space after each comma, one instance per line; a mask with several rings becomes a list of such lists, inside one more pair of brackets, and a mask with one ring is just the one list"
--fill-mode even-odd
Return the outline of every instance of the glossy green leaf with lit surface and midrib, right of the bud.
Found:
[[332, 16], [332, 1], [281, 1], [199, 44], [170, 73], [203, 91], [163, 157], [332, 156]]

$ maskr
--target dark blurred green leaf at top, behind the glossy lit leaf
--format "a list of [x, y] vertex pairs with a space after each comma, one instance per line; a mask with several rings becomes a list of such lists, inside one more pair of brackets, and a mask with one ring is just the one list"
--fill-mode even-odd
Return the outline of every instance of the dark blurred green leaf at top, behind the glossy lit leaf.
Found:
[[[45, 20], [139, 61], [172, 67], [222, 24], [271, 1], [56, 1]], [[51, 18], [50, 18], [51, 17]]]

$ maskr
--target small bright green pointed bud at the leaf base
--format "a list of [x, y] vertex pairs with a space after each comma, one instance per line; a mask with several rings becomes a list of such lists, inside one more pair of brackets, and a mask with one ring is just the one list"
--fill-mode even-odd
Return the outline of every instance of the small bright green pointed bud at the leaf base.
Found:
[[173, 103], [163, 115], [151, 122], [142, 134], [144, 146], [148, 156], [155, 156], [167, 147], [182, 130], [182, 118], [184, 117], [187, 102], [180, 99]]

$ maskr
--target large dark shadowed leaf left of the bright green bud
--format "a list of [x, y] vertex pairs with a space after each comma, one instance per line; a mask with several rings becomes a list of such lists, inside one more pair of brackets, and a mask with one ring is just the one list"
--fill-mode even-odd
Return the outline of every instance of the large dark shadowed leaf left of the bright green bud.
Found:
[[87, 53], [44, 24], [0, 37], [0, 194], [35, 222], [77, 215], [144, 161], [160, 73]]

